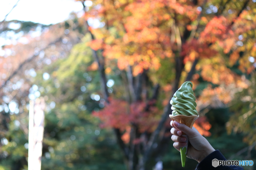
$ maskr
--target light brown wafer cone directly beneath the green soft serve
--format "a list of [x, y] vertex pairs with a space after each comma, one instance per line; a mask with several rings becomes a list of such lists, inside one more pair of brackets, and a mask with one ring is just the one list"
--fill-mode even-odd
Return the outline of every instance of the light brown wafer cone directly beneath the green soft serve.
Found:
[[[173, 120], [173, 121], [177, 121], [179, 123], [185, 124], [188, 127], [190, 127], [192, 129], [196, 119], [199, 117], [197, 115], [191, 115], [191, 116], [186, 116], [186, 115], [175, 115], [173, 116], [172, 114], [169, 115], [169, 117]], [[183, 135], [186, 135], [184, 132], [182, 132]]]

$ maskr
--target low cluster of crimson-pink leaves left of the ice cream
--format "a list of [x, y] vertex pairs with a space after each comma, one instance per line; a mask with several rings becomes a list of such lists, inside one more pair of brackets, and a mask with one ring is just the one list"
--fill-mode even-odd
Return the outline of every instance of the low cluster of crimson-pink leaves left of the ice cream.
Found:
[[[149, 104], [152, 105], [153, 103]], [[110, 98], [110, 104], [99, 112], [93, 112], [93, 115], [100, 118], [102, 127], [114, 127], [119, 128], [122, 132], [125, 130], [128, 132], [127, 127], [134, 123], [138, 125], [141, 132], [152, 132], [158, 123], [155, 116], [159, 114], [159, 110], [150, 106], [149, 110], [145, 111], [145, 107], [145, 102], [129, 104], [123, 100]], [[123, 138], [128, 137], [126, 135]]]

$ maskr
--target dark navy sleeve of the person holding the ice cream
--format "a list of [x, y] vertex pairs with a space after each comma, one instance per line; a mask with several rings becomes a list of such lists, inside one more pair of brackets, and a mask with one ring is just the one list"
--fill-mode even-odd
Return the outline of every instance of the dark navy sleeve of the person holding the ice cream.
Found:
[[220, 153], [219, 150], [216, 150], [205, 157], [197, 166], [195, 170], [243, 170], [240, 166], [212, 166], [212, 160], [226, 160], [226, 158]]

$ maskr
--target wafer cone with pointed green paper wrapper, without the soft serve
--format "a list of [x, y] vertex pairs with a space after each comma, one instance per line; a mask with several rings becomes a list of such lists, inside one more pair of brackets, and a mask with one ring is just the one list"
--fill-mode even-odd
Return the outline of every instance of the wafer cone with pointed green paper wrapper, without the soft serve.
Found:
[[[190, 115], [190, 116], [186, 116], [186, 115], [175, 115], [173, 116], [172, 114], [169, 115], [169, 117], [173, 120], [173, 121], [177, 121], [179, 123], [185, 124], [188, 127], [192, 128], [196, 119], [199, 117], [198, 115]], [[188, 143], [188, 137], [187, 135], [182, 132], [182, 136], [186, 137], [186, 142]], [[188, 145], [186, 145], [183, 148], [180, 148], [180, 155], [181, 155], [181, 162], [182, 162], [182, 167], [185, 167], [185, 162], [186, 162], [186, 156], [187, 156], [187, 149], [188, 149]]]

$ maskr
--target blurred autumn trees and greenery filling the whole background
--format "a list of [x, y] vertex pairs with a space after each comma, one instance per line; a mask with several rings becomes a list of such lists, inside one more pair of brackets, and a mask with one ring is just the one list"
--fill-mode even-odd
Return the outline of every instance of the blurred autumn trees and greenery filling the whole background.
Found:
[[170, 97], [186, 80], [199, 132], [227, 159], [256, 162], [254, 1], [81, 3], [84, 15], [62, 23], [1, 23], [17, 42], [0, 51], [0, 170], [27, 169], [37, 97], [42, 169], [193, 169], [169, 133]]

